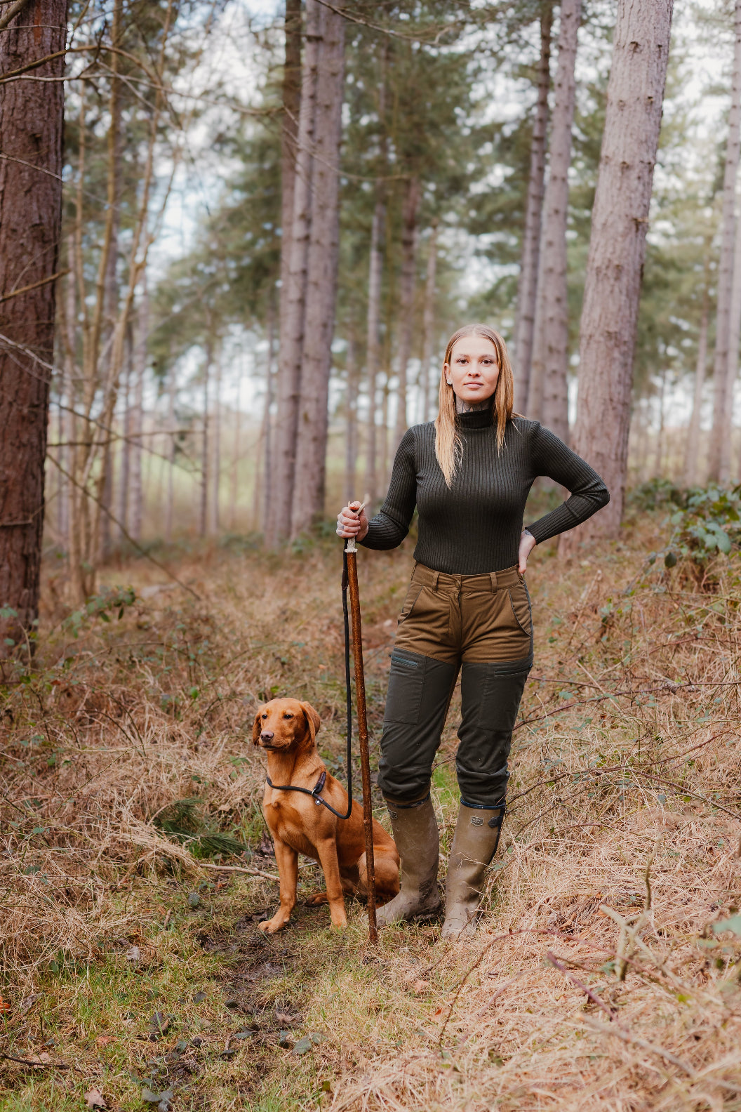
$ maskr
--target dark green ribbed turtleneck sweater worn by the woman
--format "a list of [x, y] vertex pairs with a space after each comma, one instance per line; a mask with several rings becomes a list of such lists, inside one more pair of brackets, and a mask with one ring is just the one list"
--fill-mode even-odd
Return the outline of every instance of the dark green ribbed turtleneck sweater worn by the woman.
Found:
[[395, 548], [419, 512], [414, 559], [435, 572], [480, 575], [518, 562], [524, 504], [547, 475], [571, 492], [558, 509], [528, 528], [538, 543], [587, 520], [610, 500], [597, 471], [537, 420], [508, 421], [501, 453], [491, 409], [460, 414], [463, 458], [448, 489], [434, 455], [434, 425], [403, 436], [381, 512], [361, 544]]

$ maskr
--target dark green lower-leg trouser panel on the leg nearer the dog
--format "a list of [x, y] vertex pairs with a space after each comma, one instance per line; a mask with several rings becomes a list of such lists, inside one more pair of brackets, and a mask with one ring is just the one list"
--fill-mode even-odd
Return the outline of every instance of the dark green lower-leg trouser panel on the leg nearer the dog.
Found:
[[391, 654], [378, 765], [385, 796], [415, 800], [428, 791], [457, 676], [454, 664], [405, 649]]

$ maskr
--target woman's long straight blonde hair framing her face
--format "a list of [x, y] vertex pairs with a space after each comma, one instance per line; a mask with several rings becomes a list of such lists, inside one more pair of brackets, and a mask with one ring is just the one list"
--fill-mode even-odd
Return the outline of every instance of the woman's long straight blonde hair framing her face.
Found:
[[[497, 448], [501, 451], [504, 443], [504, 430], [508, 420], [512, 417], [512, 403], [514, 400], [514, 378], [507, 344], [499, 332], [494, 328], [490, 328], [489, 325], [463, 325], [448, 340], [444, 364], [450, 364], [453, 346], [465, 336], [483, 336], [491, 340], [497, 351], [499, 378], [491, 406], [497, 415]], [[434, 420], [434, 454], [438, 457], [440, 470], [445, 477], [445, 483], [449, 487], [452, 486], [455, 471], [463, 458], [463, 441], [455, 425], [455, 394], [452, 386], [448, 385], [444, 365], [440, 375], [440, 409]]]

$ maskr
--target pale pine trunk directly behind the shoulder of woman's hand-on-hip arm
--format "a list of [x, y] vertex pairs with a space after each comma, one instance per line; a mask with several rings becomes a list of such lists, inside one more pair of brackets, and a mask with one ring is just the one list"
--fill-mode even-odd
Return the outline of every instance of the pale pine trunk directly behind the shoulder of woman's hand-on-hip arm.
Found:
[[559, 62], [553, 85], [550, 172], [545, 188], [543, 260], [543, 424], [569, 439], [569, 290], [567, 224], [581, 0], [562, 0]]

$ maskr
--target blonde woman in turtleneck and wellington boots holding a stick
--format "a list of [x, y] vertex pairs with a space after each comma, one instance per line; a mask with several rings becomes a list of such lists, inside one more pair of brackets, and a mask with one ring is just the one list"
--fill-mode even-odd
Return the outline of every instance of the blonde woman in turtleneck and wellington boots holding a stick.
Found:
[[[504, 817], [512, 729], [532, 665], [528, 556], [610, 500], [592, 468], [538, 421], [512, 413], [504, 341], [485, 325], [451, 336], [437, 420], [410, 428], [381, 512], [359, 504], [338, 516], [341, 537], [395, 548], [419, 512], [415, 565], [391, 656], [379, 786], [401, 855], [401, 891], [379, 925], [433, 914], [439, 833], [432, 762], [461, 671], [455, 758], [461, 802], [445, 883], [442, 937], [475, 931], [487, 866]], [[530, 487], [547, 475], [571, 492], [529, 528]]]

